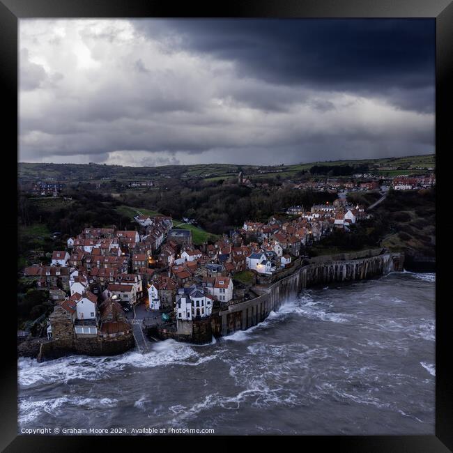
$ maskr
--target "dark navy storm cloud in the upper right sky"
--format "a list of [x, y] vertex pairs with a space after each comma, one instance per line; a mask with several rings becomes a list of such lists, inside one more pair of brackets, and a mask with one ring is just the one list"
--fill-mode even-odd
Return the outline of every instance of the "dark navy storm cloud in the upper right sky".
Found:
[[434, 20], [171, 20], [135, 26], [174, 48], [233, 61], [240, 76], [381, 95], [404, 109], [433, 112]]

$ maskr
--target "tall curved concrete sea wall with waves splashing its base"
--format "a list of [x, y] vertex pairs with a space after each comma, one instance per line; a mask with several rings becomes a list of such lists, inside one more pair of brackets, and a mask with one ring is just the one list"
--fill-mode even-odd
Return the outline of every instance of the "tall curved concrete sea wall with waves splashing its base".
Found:
[[[227, 310], [220, 312], [217, 320], [220, 329], [213, 331], [220, 331], [220, 335], [224, 336], [261, 323], [270, 312], [279, 309], [286, 300], [309, 286], [368, 279], [385, 275], [392, 270], [403, 270], [404, 254], [382, 251], [359, 252], [367, 257], [336, 261], [332, 261], [331, 257], [327, 259], [319, 256], [306, 266], [294, 268], [291, 275], [279, 279], [258, 298], [230, 305]], [[349, 256], [355, 258], [357, 255]]]

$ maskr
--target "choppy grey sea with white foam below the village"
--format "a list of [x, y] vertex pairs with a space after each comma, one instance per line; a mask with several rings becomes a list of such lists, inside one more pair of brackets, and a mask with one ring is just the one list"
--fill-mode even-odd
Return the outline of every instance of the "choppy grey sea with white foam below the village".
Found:
[[20, 360], [20, 428], [433, 434], [433, 274], [307, 290], [208, 346]]

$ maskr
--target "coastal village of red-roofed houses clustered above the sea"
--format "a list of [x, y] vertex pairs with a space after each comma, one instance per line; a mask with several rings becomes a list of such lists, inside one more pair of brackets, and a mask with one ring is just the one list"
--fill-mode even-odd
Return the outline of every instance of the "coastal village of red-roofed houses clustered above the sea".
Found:
[[[249, 183], [240, 172], [238, 184]], [[398, 177], [392, 189], [433, 184], [433, 178]], [[135, 230], [85, 228], [68, 238], [66, 249], [52, 253], [49, 265], [24, 269], [24, 278], [47, 290], [54, 305], [40, 343], [62, 342], [69, 351], [96, 354], [144, 345], [146, 337], [193, 341], [194, 323], [259, 297], [295, 263], [300, 266], [307, 247], [371, 217], [347, 200], [347, 184], [330, 185], [339, 196], [330, 204], [289, 206], [283, 220], [281, 215], [266, 223], [247, 220], [229, 235], [198, 245], [190, 229], [175, 227], [164, 215], [136, 215]], [[376, 188], [372, 181], [349, 190]], [[28, 332], [19, 337], [30, 339]]]

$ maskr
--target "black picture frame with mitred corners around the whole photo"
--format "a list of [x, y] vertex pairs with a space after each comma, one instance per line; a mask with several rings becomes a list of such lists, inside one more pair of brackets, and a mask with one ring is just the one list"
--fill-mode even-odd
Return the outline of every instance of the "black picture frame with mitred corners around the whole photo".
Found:
[[[448, 86], [448, 75], [452, 74], [452, 17], [453, 4], [450, 0], [229, 0], [222, 6], [214, 2], [195, 4], [185, 2], [175, 4], [162, 0], [0, 0], [0, 80], [3, 93], [3, 153], [8, 156], [11, 167], [17, 171], [17, 24], [18, 20], [29, 17], [431, 17], [436, 20], [436, 161], [445, 160], [449, 131], [447, 109], [451, 104], [452, 93]], [[450, 126], [451, 128], [451, 126]], [[15, 160], [16, 159], [16, 160]], [[15, 163], [14, 163], [15, 160]], [[447, 166], [436, 162], [437, 193], [442, 193], [443, 174]], [[10, 196], [8, 187], [17, 184], [15, 171], [3, 171], [3, 190], [6, 207], [3, 227], [6, 227], [7, 240], [3, 243], [12, 250], [5, 255], [15, 256], [17, 211], [15, 198]], [[9, 180], [11, 178], [12, 181]], [[5, 205], [6, 206], [6, 205]], [[436, 217], [436, 236], [445, 231], [440, 228]], [[447, 239], [448, 240], [448, 239]], [[438, 250], [436, 250], [438, 252]], [[6, 252], [5, 252], [6, 253]], [[439, 263], [439, 254], [437, 253]], [[14, 268], [14, 263], [10, 266]], [[447, 267], [436, 267], [436, 435], [435, 436], [301, 436], [304, 446], [314, 443], [316, 449], [323, 447], [346, 452], [448, 452], [453, 451], [453, 376], [449, 359], [452, 357], [452, 309], [451, 295], [447, 290]], [[13, 272], [11, 272], [13, 274]], [[14, 288], [17, 275], [9, 281]], [[443, 291], [444, 289], [444, 291]], [[11, 291], [13, 292], [13, 291]], [[445, 297], [441, 300], [441, 295]], [[9, 294], [9, 291], [8, 291]], [[0, 421], [0, 447], [5, 452], [75, 452], [87, 448], [88, 451], [107, 449], [107, 444], [131, 448], [131, 442], [144, 443], [145, 448], [155, 448], [156, 440], [167, 443], [170, 439], [146, 436], [137, 438], [96, 437], [96, 436], [18, 436], [17, 435], [17, 348], [15, 343], [15, 295], [3, 300], [3, 385], [1, 385], [2, 410]], [[7, 354], [9, 353], [9, 354]], [[206, 438], [205, 438], [206, 439]], [[199, 442], [200, 438], [184, 438], [187, 445]], [[204, 439], [203, 439], [204, 440]], [[188, 444], [187, 444], [188, 442]], [[163, 445], [163, 444], [161, 444]], [[193, 445], [193, 444], [192, 444]], [[217, 440], [211, 439], [209, 447], [216, 448]], [[450, 449], [450, 450], [449, 450]]]

